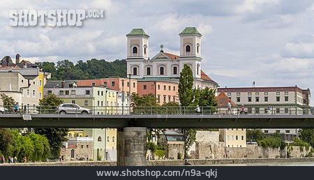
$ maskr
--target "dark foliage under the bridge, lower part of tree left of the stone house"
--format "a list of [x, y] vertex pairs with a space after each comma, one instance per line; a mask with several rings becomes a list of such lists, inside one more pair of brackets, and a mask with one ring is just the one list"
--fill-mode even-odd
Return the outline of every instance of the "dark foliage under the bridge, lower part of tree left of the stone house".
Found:
[[64, 128], [35, 128], [34, 132], [39, 135], [45, 135], [50, 144], [50, 154], [48, 158], [58, 158], [60, 147], [67, 140], [68, 129]]

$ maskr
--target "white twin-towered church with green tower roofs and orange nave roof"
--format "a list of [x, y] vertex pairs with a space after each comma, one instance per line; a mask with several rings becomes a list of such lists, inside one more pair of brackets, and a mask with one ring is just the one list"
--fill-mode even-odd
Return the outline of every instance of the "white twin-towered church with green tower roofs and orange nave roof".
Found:
[[194, 88], [217, 89], [218, 83], [202, 70], [202, 34], [195, 27], [186, 27], [179, 36], [179, 55], [164, 52], [160, 45], [160, 52], [149, 58], [149, 35], [143, 29], [130, 31], [126, 35], [128, 76], [138, 82], [179, 83], [180, 72], [188, 64], [193, 71]]

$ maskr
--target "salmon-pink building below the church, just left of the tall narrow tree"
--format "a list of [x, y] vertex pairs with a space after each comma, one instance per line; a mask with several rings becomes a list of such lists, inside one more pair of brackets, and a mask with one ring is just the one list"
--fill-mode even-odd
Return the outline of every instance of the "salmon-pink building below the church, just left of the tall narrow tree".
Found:
[[178, 85], [176, 82], [144, 81], [137, 82], [137, 93], [140, 96], [153, 94], [160, 105], [163, 103], [179, 103]]

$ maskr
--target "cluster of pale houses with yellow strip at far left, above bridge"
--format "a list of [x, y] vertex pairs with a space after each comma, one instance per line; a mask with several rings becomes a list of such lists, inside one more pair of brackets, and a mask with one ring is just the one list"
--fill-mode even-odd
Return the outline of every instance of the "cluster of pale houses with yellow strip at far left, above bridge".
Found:
[[[29, 61], [20, 61], [20, 54], [16, 54], [15, 63], [9, 56], [0, 61], [0, 94], [13, 97], [22, 109], [36, 110], [43, 98], [47, 78], [50, 78], [50, 73], [43, 72]], [[1, 99], [0, 105], [3, 105]]]

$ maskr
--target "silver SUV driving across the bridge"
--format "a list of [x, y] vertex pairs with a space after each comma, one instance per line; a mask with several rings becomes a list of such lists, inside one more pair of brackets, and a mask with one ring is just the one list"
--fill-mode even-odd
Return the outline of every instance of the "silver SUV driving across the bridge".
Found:
[[58, 114], [91, 114], [91, 110], [86, 109], [84, 107], [80, 107], [80, 105], [64, 103], [59, 105], [57, 108]]

